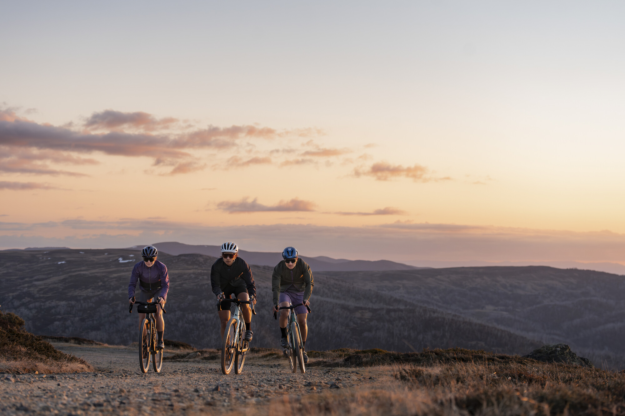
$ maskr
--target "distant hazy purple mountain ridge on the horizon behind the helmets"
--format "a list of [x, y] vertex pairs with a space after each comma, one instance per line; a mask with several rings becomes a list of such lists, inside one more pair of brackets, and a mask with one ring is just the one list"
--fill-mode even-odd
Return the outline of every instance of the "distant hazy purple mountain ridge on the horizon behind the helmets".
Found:
[[[204, 254], [211, 255], [212, 257], [221, 256], [221, 247], [219, 245], [190, 245], [179, 242], [159, 242], [154, 243], [154, 247], [159, 251], [166, 252], [171, 255], [179, 254]], [[139, 245], [129, 247], [130, 249], [137, 249]], [[248, 264], [266, 265], [274, 267], [282, 260], [281, 252], [258, 252], [239, 250], [239, 255]], [[417, 269], [429, 269], [429, 267], [416, 267], [412, 265], [392, 262], [390, 260], [347, 260], [347, 259], [332, 259], [320, 255], [319, 257], [306, 257], [299, 256], [304, 260], [312, 269], [312, 272], [359, 272], [359, 271], [374, 271], [383, 272], [387, 270], [417, 270]]]

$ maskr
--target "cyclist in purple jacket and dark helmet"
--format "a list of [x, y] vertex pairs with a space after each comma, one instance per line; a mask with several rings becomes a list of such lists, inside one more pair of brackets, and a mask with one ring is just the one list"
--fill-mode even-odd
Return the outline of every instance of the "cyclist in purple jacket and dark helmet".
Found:
[[[167, 266], [156, 260], [158, 250], [153, 245], [147, 245], [141, 250], [143, 262], [138, 262], [133, 267], [128, 284], [128, 302], [134, 304], [137, 282], [139, 282], [139, 302], [152, 302], [156, 299], [156, 334], [158, 334], [158, 344], [156, 349], [162, 350], [163, 331], [165, 321], [163, 320], [163, 306], [167, 302], [167, 292], [169, 290], [169, 274]], [[139, 314], [139, 322], [142, 322], [146, 314]]]

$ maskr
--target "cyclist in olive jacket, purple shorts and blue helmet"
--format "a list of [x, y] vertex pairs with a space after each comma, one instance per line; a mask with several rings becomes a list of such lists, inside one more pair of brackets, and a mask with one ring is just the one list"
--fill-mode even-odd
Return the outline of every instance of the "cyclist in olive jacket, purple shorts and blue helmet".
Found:
[[[304, 304], [309, 305], [309, 299], [312, 293], [312, 272], [309, 265], [302, 259], [297, 259], [297, 250], [295, 247], [286, 247], [282, 251], [282, 260], [271, 275], [271, 290], [273, 292], [274, 311], [278, 311], [279, 306], [289, 306]], [[306, 325], [306, 317], [308, 310], [306, 306], [298, 306], [295, 308], [297, 314], [297, 324], [302, 334], [302, 344], [306, 348], [306, 335], [308, 327]], [[282, 348], [289, 347], [289, 340], [286, 337], [286, 325], [289, 319], [289, 310], [280, 310], [280, 334], [282, 335]], [[308, 355], [304, 352], [304, 364], [308, 362]]]

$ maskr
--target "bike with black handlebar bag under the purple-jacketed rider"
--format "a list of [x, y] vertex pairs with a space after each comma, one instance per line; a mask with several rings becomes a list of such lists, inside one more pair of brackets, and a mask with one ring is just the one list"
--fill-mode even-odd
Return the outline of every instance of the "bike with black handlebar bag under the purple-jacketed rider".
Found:
[[[128, 308], [128, 312], [132, 314], [133, 305], [137, 305], [137, 312], [146, 314], [146, 317], [141, 321], [141, 325], [139, 325], [139, 368], [144, 373], [148, 372], [150, 356], [152, 357], [154, 372], [160, 372], [161, 365], [163, 365], [163, 350], [156, 349], [156, 319], [154, 319], [154, 314], [156, 314], [156, 305], [158, 304], [158, 302], [140, 302], [136, 300]], [[166, 313], [167, 311], [163, 307], [163, 314]]]

